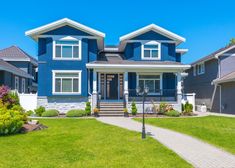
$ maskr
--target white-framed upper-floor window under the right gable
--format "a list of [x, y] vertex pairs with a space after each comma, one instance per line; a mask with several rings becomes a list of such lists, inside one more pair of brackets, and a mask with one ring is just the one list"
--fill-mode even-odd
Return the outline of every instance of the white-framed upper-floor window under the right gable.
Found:
[[161, 59], [161, 43], [150, 41], [142, 43], [141, 58], [143, 60], [160, 60]]

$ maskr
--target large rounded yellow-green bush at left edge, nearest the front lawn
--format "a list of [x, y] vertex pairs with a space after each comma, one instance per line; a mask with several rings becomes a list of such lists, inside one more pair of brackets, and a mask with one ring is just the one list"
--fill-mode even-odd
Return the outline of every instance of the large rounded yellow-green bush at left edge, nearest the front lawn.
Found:
[[15, 134], [24, 124], [25, 115], [15, 110], [0, 110], [0, 135]]

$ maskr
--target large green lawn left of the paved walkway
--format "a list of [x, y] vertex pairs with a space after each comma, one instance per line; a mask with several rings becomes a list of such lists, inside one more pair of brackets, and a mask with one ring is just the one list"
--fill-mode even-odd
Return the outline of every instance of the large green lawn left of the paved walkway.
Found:
[[42, 131], [0, 137], [0, 167], [191, 167], [140, 133], [94, 119], [43, 119]]

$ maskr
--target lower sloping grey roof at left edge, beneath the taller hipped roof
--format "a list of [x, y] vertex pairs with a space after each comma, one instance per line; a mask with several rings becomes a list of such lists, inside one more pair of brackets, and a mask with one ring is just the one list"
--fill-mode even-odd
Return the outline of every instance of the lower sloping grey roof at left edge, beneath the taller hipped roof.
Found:
[[0, 59], [0, 70], [10, 72], [12, 74], [15, 74], [17, 76], [25, 77], [25, 78], [32, 78], [31, 75], [26, 73], [25, 71], [9, 64], [8, 62]]

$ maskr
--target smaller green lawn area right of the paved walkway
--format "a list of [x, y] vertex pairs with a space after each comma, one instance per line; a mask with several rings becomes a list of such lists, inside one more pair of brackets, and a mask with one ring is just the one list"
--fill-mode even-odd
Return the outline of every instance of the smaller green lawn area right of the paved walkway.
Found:
[[235, 154], [235, 118], [147, 118], [146, 123], [194, 136]]

